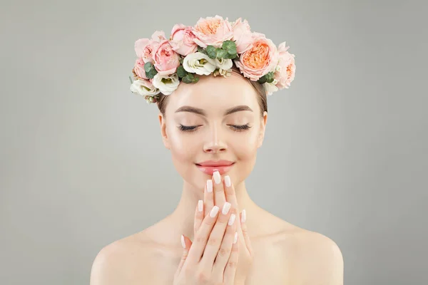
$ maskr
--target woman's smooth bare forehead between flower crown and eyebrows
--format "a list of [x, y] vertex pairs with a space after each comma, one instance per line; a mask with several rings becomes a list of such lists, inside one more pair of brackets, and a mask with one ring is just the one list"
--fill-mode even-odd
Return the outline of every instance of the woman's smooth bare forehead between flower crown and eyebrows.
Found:
[[258, 112], [258, 94], [244, 78], [232, 73], [223, 76], [200, 76], [197, 83], [180, 83], [168, 100], [166, 112], [175, 112], [184, 105], [201, 108], [210, 113], [223, 113], [236, 105], [248, 105]]

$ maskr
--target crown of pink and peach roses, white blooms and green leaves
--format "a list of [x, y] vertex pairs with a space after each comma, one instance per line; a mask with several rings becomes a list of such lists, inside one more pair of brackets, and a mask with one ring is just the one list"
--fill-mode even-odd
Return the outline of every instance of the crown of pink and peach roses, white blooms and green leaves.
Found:
[[[200, 18], [195, 26], [176, 24], [169, 40], [163, 31], [135, 43], [131, 92], [156, 103], [160, 93], [170, 95], [180, 82], [197, 83], [198, 76], [228, 77], [233, 64], [267, 95], [288, 88], [295, 77], [295, 55], [285, 42], [279, 46], [263, 33], [250, 31], [241, 18], [230, 23], [221, 16]], [[198, 76], [197, 76], [198, 75]]]

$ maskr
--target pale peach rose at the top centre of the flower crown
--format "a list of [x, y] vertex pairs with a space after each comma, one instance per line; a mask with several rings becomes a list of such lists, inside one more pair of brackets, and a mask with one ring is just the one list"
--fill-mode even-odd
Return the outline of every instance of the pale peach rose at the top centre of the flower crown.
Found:
[[215, 17], [200, 18], [193, 27], [195, 43], [202, 48], [215, 46], [220, 48], [223, 41], [228, 41], [233, 37], [232, 27], [228, 19], [216, 15]]

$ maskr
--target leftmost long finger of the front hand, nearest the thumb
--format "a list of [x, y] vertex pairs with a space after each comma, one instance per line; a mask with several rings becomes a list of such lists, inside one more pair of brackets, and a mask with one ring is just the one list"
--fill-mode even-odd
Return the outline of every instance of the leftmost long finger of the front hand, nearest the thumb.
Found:
[[195, 239], [193, 239], [192, 247], [189, 250], [188, 260], [192, 264], [195, 264], [200, 261], [200, 257], [202, 257], [203, 251], [205, 249], [205, 244], [207, 244], [208, 237], [210, 237], [211, 230], [216, 224], [218, 219], [219, 207], [214, 206], [211, 209], [210, 214], [207, 214], [202, 224], [200, 225], [198, 232], [195, 234]]

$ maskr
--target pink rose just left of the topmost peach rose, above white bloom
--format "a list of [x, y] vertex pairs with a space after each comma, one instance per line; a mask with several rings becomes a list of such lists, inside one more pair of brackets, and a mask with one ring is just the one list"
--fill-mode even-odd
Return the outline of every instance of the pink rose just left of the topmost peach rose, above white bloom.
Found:
[[170, 45], [176, 53], [187, 56], [189, 53], [194, 53], [198, 50], [198, 45], [194, 41], [195, 34], [192, 30], [192, 27], [183, 24], [176, 24], [173, 26]]

